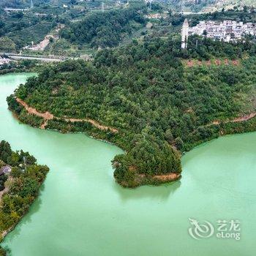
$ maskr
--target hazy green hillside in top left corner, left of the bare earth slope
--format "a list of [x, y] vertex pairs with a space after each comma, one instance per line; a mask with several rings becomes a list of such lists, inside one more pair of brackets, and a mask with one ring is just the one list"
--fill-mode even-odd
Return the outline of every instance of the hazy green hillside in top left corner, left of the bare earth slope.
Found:
[[19, 51], [31, 45], [32, 41], [36, 44], [58, 23], [65, 24], [89, 12], [84, 7], [67, 10], [62, 5], [48, 4], [48, 1], [43, 3], [34, 1], [34, 8], [24, 12], [5, 12], [0, 8], [0, 51]]

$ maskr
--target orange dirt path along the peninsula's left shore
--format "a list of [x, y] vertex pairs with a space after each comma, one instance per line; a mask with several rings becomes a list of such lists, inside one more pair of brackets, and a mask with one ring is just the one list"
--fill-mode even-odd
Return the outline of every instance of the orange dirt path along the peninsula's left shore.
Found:
[[[42, 117], [45, 119], [45, 122], [41, 125], [41, 129], [45, 129], [46, 125], [48, 124], [48, 120], [52, 120], [53, 118], [56, 119], [61, 119], [59, 117], [53, 116], [52, 113], [50, 112], [45, 112], [45, 113], [40, 113], [38, 112], [35, 108], [31, 108], [29, 107], [29, 105], [26, 104], [26, 102], [24, 102], [22, 99], [20, 98], [16, 98], [16, 101], [20, 104], [23, 105], [23, 107], [28, 111], [28, 113]], [[110, 130], [111, 132], [117, 133], [118, 129], [112, 128], [112, 127], [107, 127], [104, 126], [102, 124], [99, 124], [97, 121], [93, 120], [93, 119], [89, 119], [89, 118], [64, 118], [65, 121], [71, 121], [72, 123], [74, 122], [88, 122], [90, 124], [92, 124], [94, 127], [97, 127], [98, 129], [101, 130]]]

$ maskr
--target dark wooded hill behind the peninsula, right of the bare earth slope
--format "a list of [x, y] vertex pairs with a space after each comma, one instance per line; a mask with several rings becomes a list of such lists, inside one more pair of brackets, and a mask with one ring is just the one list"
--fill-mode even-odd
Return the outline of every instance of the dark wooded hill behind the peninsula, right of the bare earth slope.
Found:
[[89, 43], [94, 48], [114, 47], [125, 34], [131, 34], [133, 29], [138, 29], [145, 23], [140, 5], [124, 10], [94, 12], [63, 29], [61, 37], [80, 45]]

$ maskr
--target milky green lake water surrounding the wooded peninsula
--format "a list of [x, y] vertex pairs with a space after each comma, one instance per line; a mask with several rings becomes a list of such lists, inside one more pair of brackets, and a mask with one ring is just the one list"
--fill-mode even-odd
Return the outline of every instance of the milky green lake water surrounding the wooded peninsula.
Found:
[[[31, 152], [50, 173], [29, 214], [4, 240], [12, 255], [256, 255], [256, 133], [195, 148], [183, 157], [183, 178], [175, 184], [123, 189], [110, 165], [121, 149], [13, 118], [5, 99], [28, 76], [0, 76], [0, 140]], [[189, 236], [189, 217], [214, 225], [238, 219], [241, 240], [197, 241]]]

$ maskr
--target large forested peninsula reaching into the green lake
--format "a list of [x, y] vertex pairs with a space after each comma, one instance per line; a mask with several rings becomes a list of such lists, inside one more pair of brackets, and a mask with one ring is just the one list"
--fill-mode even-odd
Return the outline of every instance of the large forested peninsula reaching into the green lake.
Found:
[[123, 148], [113, 159], [122, 186], [160, 184], [181, 177], [182, 152], [256, 129], [255, 53], [249, 41], [193, 36], [181, 50], [179, 38], [148, 36], [91, 62], [46, 66], [7, 102], [26, 124]]

